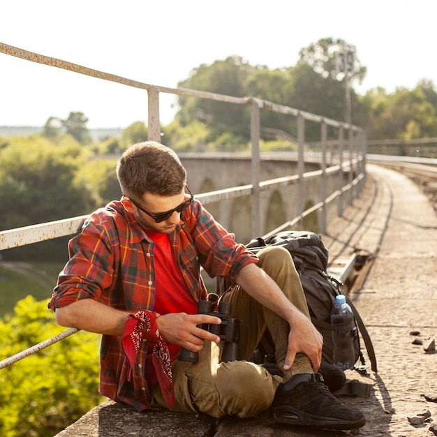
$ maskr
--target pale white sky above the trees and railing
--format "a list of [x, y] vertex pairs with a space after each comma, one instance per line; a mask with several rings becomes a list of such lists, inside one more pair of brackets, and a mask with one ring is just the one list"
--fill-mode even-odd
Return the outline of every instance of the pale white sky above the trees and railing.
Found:
[[[436, 0], [0, 0], [0, 42], [131, 80], [177, 88], [194, 68], [238, 55], [295, 66], [320, 38], [354, 45], [355, 91], [437, 87]], [[292, 105], [292, 102], [289, 104]], [[161, 93], [161, 124], [175, 96]], [[0, 53], [0, 126], [83, 112], [89, 128], [147, 122], [147, 91]]]

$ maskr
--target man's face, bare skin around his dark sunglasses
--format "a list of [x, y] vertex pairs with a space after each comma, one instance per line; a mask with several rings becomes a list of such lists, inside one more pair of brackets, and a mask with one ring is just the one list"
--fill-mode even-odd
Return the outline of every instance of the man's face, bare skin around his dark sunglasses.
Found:
[[[179, 207], [184, 200], [186, 200], [186, 195], [185, 190], [182, 190], [182, 192], [177, 195], [165, 197], [161, 195], [145, 193], [140, 202], [136, 203], [139, 203], [142, 209], [145, 209], [147, 212], [149, 212], [149, 214], [158, 216], [158, 214], [162, 214]], [[154, 218], [143, 212], [140, 208], [136, 207], [132, 203], [129, 205], [131, 205], [131, 207], [126, 209], [128, 209], [129, 212], [132, 212], [142, 228], [161, 232], [161, 234], [170, 234], [173, 232], [181, 219], [180, 212], [174, 211], [166, 220], [156, 223]]]

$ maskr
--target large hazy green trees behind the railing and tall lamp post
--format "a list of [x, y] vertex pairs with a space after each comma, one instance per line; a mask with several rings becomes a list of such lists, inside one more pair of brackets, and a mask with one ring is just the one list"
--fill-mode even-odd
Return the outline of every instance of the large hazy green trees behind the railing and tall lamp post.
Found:
[[[228, 57], [207, 66], [195, 68], [179, 87], [211, 91], [228, 96], [254, 96], [273, 103], [290, 106], [336, 120], [346, 119], [346, 84], [343, 73], [335, 71], [336, 53], [355, 52], [355, 71], [350, 78], [352, 122], [362, 126], [368, 138], [419, 138], [437, 135], [437, 94], [434, 84], [422, 80], [413, 90], [397, 89], [394, 94], [384, 90], [369, 91], [358, 96], [355, 82], [361, 82], [366, 68], [357, 57], [357, 50], [345, 40], [322, 38], [299, 52], [296, 66], [276, 68], [250, 66], [241, 57]], [[338, 80], [340, 79], [340, 80]], [[341, 80], [343, 79], [343, 80]], [[175, 140], [175, 147], [184, 150], [215, 149], [235, 151], [245, 149], [250, 140], [249, 105], [237, 105], [207, 99], [179, 96], [179, 126], [192, 126], [202, 140], [187, 139], [170, 129], [165, 144]], [[265, 140], [280, 140], [286, 135], [297, 136], [294, 117], [269, 110], [260, 111], [261, 135]], [[188, 133], [191, 133], [187, 129]], [[185, 132], [184, 132], [185, 133]], [[329, 135], [338, 135], [332, 128]], [[319, 140], [320, 126], [305, 123], [305, 139]], [[170, 140], [170, 141], [168, 141]], [[173, 147], [173, 146], [172, 146]]]

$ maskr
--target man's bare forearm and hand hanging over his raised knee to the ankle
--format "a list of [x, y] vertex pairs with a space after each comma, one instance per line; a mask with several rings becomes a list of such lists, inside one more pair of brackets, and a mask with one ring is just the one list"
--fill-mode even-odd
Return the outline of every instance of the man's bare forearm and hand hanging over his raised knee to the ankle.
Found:
[[273, 279], [257, 265], [248, 264], [239, 269], [235, 280], [253, 299], [281, 316], [290, 325], [284, 369], [290, 369], [296, 354], [302, 352], [309, 357], [314, 371], [317, 371], [320, 368], [323, 336], [311, 320], [286, 298]]

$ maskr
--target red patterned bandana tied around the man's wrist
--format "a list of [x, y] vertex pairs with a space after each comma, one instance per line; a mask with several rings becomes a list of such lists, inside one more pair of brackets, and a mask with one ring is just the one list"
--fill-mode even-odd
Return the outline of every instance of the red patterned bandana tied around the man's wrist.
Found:
[[156, 370], [156, 376], [158, 376], [159, 386], [165, 401], [169, 408], [173, 408], [175, 406], [175, 391], [173, 390], [170, 353], [156, 324], [158, 316], [159, 314], [153, 311], [137, 311], [136, 313], [129, 314], [124, 326], [123, 336], [121, 337], [121, 346], [129, 362], [128, 380], [131, 380], [132, 367], [135, 364], [138, 350], [140, 350], [142, 337], [154, 341], [152, 361]]

